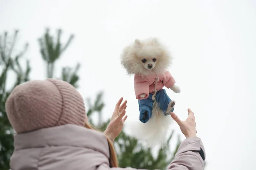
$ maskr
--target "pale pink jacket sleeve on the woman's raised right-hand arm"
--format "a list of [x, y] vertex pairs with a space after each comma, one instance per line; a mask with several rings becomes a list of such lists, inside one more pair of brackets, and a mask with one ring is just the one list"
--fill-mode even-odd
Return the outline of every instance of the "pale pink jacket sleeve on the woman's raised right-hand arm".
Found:
[[[167, 170], [204, 170], [205, 150], [200, 138], [187, 138], [181, 144]], [[98, 170], [136, 170], [127, 168], [110, 168], [102, 165]]]

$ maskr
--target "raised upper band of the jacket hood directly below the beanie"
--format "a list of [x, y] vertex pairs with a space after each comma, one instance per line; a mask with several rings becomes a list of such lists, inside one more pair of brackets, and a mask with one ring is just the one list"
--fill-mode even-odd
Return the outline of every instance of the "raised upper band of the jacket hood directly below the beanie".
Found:
[[15, 134], [14, 146], [15, 150], [51, 146], [84, 147], [98, 150], [109, 158], [108, 141], [103, 133], [73, 124]]

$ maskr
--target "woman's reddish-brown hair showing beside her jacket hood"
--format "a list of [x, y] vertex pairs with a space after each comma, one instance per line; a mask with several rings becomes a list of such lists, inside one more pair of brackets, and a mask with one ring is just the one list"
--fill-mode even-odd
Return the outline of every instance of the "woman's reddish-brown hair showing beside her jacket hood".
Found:
[[[91, 126], [89, 123], [85, 123], [84, 127], [86, 127], [87, 129], [97, 130], [95, 127]], [[108, 140], [108, 146], [109, 146], [109, 151], [110, 151], [110, 158], [109, 158], [110, 167], [118, 167], [115, 148], [114, 148], [112, 142], [108, 138], [107, 138], [107, 140]]]

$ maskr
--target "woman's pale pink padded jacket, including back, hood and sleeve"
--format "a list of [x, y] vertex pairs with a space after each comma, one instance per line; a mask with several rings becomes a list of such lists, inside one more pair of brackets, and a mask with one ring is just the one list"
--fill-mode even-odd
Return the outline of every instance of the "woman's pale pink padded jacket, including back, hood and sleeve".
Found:
[[[135, 170], [110, 168], [103, 133], [66, 124], [15, 134], [12, 170]], [[205, 151], [200, 138], [187, 138], [167, 170], [203, 170]]]

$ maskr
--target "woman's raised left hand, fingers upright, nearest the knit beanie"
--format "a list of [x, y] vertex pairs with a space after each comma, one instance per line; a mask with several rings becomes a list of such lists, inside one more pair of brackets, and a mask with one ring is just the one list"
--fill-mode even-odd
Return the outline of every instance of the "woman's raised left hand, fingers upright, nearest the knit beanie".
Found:
[[121, 133], [122, 128], [124, 127], [125, 120], [127, 118], [127, 115], [125, 115], [127, 101], [124, 101], [121, 105], [122, 100], [123, 98], [120, 98], [119, 101], [116, 103], [116, 107], [112, 114], [111, 120], [108, 124], [107, 129], [104, 132], [105, 136], [112, 141], [114, 141], [119, 133]]

